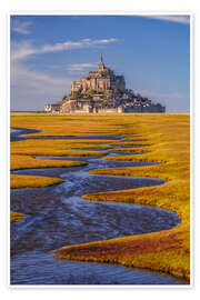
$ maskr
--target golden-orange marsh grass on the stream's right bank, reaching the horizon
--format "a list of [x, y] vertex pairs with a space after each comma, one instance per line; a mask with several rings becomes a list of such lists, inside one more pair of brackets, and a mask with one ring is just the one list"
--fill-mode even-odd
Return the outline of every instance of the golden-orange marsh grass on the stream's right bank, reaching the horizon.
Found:
[[[53, 123], [53, 127], [52, 127]], [[164, 271], [190, 278], [190, 117], [189, 114], [147, 113], [118, 116], [13, 116], [13, 127], [41, 129], [34, 136], [131, 134], [147, 151], [143, 154], [109, 157], [127, 161], [154, 161], [161, 164], [93, 170], [97, 174], [150, 177], [166, 180], [157, 187], [87, 194], [92, 201], [123, 201], [169, 209], [181, 223], [170, 230], [140, 236], [67, 246], [54, 251], [61, 259], [120, 263], [127, 267]], [[132, 139], [132, 141], [131, 141]], [[132, 144], [131, 144], [132, 143]], [[134, 149], [133, 149], [134, 150]], [[126, 149], [123, 149], [126, 151]]]

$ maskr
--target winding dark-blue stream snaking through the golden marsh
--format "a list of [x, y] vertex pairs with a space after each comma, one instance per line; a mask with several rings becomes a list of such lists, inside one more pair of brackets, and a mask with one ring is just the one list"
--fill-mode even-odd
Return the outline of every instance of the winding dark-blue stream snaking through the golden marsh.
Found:
[[[24, 139], [21, 134], [32, 132], [36, 130], [18, 128], [11, 132], [11, 141]], [[92, 138], [99, 139], [84, 138], [91, 138], [91, 142]], [[121, 139], [119, 136], [101, 138]], [[180, 220], [171, 211], [131, 203], [92, 202], [81, 198], [99, 191], [162, 184], [163, 181], [158, 179], [94, 176], [88, 172], [100, 168], [151, 163], [109, 161], [101, 157], [42, 159], [83, 160], [87, 166], [13, 172], [59, 177], [66, 182], [47, 188], [11, 190], [11, 210], [26, 214], [21, 222], [11, 224], [11, 284], [183, 284], [161, 273], [59, 260], [52, 258], [50, 252], [67, 244], [160, 231], [178, 224]]]

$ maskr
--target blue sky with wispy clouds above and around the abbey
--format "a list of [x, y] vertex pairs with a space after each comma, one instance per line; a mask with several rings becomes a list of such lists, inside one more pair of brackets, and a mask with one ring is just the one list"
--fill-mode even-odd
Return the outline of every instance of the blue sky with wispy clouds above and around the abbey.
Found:
[[11, 16], [11, 110], [43, 110], [106, 66], [127, 88], [190, 110], [188, 16]]

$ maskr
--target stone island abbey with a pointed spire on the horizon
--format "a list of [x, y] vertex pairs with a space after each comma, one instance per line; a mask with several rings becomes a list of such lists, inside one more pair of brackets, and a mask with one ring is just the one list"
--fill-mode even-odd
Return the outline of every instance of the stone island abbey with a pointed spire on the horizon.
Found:
[[47, 104], [44, 110], [58, 113], [166, 112], [166, 107], [127, 89], [124, 77], [106, 67], [100, 54], [98, 71], [73, 81], [69, 96]]

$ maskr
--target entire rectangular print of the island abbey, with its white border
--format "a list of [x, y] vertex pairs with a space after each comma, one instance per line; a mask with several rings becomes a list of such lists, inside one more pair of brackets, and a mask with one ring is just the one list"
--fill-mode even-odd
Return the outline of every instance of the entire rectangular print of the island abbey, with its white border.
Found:
[[9, 22], [10, 287], [191, 288], [193, 18], [74, 13]]

